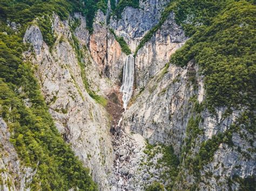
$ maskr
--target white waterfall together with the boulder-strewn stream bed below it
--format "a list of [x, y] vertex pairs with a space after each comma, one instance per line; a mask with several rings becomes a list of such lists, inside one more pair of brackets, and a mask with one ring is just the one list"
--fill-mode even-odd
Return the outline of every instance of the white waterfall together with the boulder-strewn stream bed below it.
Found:
[[[123, 81], [120, 87], [120, 92], [123, 93], [123, 107], [126, 111], [127, 104], [129, 103], [132, 92], [133, 92], [133, 82], [134, 82], [134, 57], [133, 55], [128, 55], [123, 68]], [[123, 112], [123, 115], [125, 113]], [[122, 115], [122, 116], [123, 116]], [[134, 138], [127, 133], [125, 133], [120, 123], [123, 117], [119, 119], [118, 125], [113, 132], [113, 150], [114, 150], [114, 167], [113, 176], [111, 178], [111, 190], [129, 190], [129, 188], [134, 188], [129, 180], [133, 177], [133, 171], [131, 171], [131, 161], [134, 161], [135, 154], [134, 150], [136, 147], [136, 141]]]

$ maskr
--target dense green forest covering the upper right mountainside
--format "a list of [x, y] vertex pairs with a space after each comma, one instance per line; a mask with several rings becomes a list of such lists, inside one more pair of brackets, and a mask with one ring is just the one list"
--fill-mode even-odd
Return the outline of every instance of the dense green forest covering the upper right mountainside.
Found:
[[206, 76], [206, 105], [211, 111], [255, 103], [255, 14], [255, 5], [245, 1], [229, 4], [171, 58], [179, 66], [196, 60]]

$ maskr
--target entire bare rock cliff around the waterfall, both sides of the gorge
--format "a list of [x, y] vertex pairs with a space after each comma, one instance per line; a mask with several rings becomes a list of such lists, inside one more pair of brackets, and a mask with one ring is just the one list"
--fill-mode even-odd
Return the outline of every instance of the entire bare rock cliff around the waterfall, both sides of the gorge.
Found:
[[[215, 108], [216, 114], [207, 108], [198, 109], [206, 97], [205, 76], [198, 64], [194, 60], [185, 67], [169, 63], [170, 56], [188, 39], [176, 24], [173, 12], [139, 49], [135, 58], [133, 96], [120, 123], [124, 132], [110, 134], [123, 112], [119, 88], [127, 58], [110, 29], [116, 36], [123, 37], [134, 53], [145, 34], [159, 22], [168, 3], [166, 0], [140, 1], [140, 9], [126, 7], [121, 18], [111, 16], [110, 20], [99, 10], [92, 34], [86, 29], [86, 18], [79, 13], [69, 21], [53, 15], [55, 44], [46, 45], [35, 22], [24, 36], [24, 42], [33, 46], [24, 53], [24, 58], [35, 66], [35, 75], [58, 131], [91, 169], [100, 190], [143, 190], [154, 181], [165, 186], [171, 184], [174, 190], [237, 190], [241, 182], [234, 177], [245, 179], [255, 174], [254, 135], [246, 128], [229, 131], [243, 110], [233, 109], [226, 115], [225, 107]], [[76, 19], [79, 24], [72, 30], [70, 23]], [[111, 104], [103, 107], [102, 102], [93, 99], [96, 94], [107, 98], [114, 107]], [[202, 120], [193, 129], [192, 121], [197, 118]], [[4, 128], [0, 131], [4, 147], [0, 149], [9, 153], [0, 160], [1, 169], [6, 169], [2, 179], [11, 179], [12, 188], [23, 190], [35, 172], [19, 165], [3, 121], [1, 127]], [[201, 147], [220, 132], [224, 138], [229, 137], [232, 144], [221, 139], [212, 157], [197, 166], [195, 174], [192, 160], [197, 159]], [[156, 145], [153, 157], [145, 152], [146, 139]], [[164, 158], [164, 145], [171, 145], [179, 159], [175, 179], [171, 175], [164, 177], [171, 168], [167, 163], [159, 166]], [[21, 182], [16, 187], [10, 168], [17, 171], [17, 181]]]

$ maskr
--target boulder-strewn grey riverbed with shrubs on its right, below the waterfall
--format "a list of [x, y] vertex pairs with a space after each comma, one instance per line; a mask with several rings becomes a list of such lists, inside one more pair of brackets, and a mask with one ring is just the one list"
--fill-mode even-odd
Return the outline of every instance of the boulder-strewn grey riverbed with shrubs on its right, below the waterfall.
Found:
[[[169, 177], [164, 177], [169, 167], [163, 158], [161, 145], [147, 147], [146, 139], [138, 133], [125, 132], [117, 126], [112, 132], [114, 164], [109, 180], [111, 190], [144, 190], [152, 182], [167, 185]], [[149, 154], [150, 153], [150, 154]]]

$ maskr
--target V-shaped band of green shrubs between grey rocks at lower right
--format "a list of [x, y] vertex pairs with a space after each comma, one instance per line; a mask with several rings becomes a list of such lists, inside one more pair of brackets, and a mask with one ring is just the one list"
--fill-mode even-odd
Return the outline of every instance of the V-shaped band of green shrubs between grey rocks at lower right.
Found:
[[[181, 157], [185, 160], [185, 167], [197, 178], [197, 181], [200, 181], [201, 179], [200, 169], [203, 169], [204, 165], [212, 161], [214, 153], [218, 150], [220, 144], [227, 144], [228, 146], [233, 147], [232, 135], [234, 132], [238, 132], [241, 128], [246, 128], [247, 126], [254, 126], [255, 130], [255, 121], [253, 121], [253, 118], [248, 117], [249, 115], [250, 114], [245, 111], [225, 132], [219, 132], [217, 135], [212, 136], [211, 139], [207, 139], [201, 143], [199, 152], [194, 158], [190, 158], [190, 155], [192, 154], [191, 148], [196, 144], [198, 135], [203, 135], [203, 130], [198, 128], [200, 121], [203, 119], [199, 115], [196, 118], [190, 118], [187, 124], [187, 137], [185, 138], [185, 146], [183, 147], [183, 154]], [[238, 152], [241, 152], [239, 150], [240, 148], [238, 147]], [[246, 153], [242, 154], [246, 155]]]

